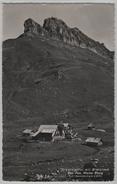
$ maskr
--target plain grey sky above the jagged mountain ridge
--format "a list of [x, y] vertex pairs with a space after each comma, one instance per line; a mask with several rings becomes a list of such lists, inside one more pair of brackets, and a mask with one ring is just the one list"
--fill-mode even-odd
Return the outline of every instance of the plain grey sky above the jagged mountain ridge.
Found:
[[3, 40], [22, 34], [28, 18], [43, 25], [44, 19], [52, 16], [114, 50], [113, 4], [4, 4]]

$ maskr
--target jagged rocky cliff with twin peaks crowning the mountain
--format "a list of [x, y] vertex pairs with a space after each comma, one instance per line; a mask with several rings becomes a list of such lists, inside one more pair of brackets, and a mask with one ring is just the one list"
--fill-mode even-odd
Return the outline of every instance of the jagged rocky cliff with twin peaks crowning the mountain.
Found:
[[65, 22], [54, 17], [45, 19], [43, 26], [32, 19], [27, 19], [24, 23], [23, 35], [51, 37], [75, 47], [87, 48], [103, 57], [113, 58], [113, 52], [109, 51], [103, 43], [94, 41], [78, 28], [70, 28]]

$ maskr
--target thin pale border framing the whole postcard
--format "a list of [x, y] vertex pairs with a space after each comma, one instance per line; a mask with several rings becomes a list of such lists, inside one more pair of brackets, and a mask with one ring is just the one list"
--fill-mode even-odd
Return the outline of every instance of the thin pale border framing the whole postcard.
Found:
[[[0, 184], [27, 184], [27, 183], [49, 183], [49, 184], [59, 184], [59, 183], [65, 183], [65, 184], [74, 184], [74, 183], [81, 183], [81, 184], [86, 184], [87, 182], [18, 182], [18, 181], [3, 181], [2, 180], [2, 3], [114, 3], [115, 4], [115, 51], [117, 50], [117, 0], [0, 0]], [[115, 79], [117, 77], [116, 75], [116, 69], [117, 69], [117, 53], [115, 52]], [[117, 80], [115, 80], [115, 177], [114, 181], [109, 181], [109, 182], [89, 182], [89, 183], [96, 183], [96, 184], [116, 184], [117, 183], [117, 125], [116, 125], [116, 120], [117, 120], [117, 109], [116, 109], [116, 104], [117, 104], [117, 97], [116, 97], [116, 89], [117, 89]]]

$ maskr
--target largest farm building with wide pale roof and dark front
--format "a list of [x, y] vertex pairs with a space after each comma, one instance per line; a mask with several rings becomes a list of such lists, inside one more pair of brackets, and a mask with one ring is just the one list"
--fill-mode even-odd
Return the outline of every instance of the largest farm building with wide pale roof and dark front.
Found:
[[40, 125], [37, 132], [32, 135], [32, 139], [38, 139], [40, 141], [54, 141], [56, 136], [60, 135], [60, 131], [58, 130], [58, 125]]

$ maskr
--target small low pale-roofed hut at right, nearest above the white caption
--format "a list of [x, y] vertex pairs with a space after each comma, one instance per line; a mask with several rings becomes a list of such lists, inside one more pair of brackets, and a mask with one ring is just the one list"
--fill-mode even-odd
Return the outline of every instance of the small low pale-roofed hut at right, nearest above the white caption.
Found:
[[101, 146], [103, 142], [101, 138], [88, 137], [85, 140], [85, 144], [88, 146]]

